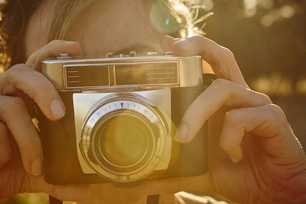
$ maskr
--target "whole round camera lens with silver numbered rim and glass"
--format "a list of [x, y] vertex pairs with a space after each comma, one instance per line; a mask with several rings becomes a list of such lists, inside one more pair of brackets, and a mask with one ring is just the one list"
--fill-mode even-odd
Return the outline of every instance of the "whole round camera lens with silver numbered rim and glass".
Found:
[[113, 182], [149, 175], [165, 154], [168, 129], [162, 113], [132, 93], [101, 98], [82, 127], [80, 150], [90, 168]]

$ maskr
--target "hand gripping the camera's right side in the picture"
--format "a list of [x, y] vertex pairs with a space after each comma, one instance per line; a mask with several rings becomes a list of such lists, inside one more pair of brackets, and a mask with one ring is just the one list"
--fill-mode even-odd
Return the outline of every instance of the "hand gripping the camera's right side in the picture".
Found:
[[[248, 88], [232, 52], [202, 36], [166, 36], [161, 44], [178, 56], [201, 55], [219, 78], [188, 108], [175, 135], [188, 143], [209, 122], [209, 172], [194, 185], [240, 203], [306, 202], [305, 154], [281, 108]], [[191, 182], [185, 180], [181, 185]]]

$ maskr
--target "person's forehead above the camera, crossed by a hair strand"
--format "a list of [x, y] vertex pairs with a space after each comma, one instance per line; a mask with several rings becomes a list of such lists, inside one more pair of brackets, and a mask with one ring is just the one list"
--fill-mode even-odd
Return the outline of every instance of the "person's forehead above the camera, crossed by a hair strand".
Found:
[[[26, 37], [27, 57], [48, 41], [55, 4], [47, 1], [32, 17]], [[138, 2], [138, 3], [137, 3]], [[66, 40], [81, 44], [82, 55], [104, 55], [116, 50], [152, 47], [160, 51], [161, 34], [150, 22], [149, 8], [136, 1], [96, 1], [78, 15]]]

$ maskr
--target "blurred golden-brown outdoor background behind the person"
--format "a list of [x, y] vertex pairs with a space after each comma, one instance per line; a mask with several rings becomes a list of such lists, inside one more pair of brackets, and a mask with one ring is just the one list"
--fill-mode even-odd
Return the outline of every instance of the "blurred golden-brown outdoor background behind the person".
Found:
[[[250, 88], [268, 94], [284, 110], [306, 146], [306, 0], [190, 0], [188, 4], [205, 6], [199, 16], [214, 13], [203, 29], [206, 37], [232, 50]], [[5, 50], [0, 50], [0, 62], [6, 63], [5, 59]], [[47, 200], [44, 194], [25, 194], [0, 203]]]

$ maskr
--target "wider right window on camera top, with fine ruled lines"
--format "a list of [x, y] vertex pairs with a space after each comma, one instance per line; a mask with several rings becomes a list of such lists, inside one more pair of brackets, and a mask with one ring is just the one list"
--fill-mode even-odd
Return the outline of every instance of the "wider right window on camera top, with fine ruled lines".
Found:
[[115, 66], [116, 85], [177, 84], [177, 62]]

